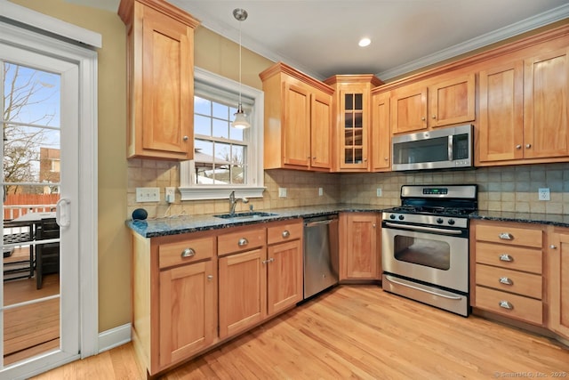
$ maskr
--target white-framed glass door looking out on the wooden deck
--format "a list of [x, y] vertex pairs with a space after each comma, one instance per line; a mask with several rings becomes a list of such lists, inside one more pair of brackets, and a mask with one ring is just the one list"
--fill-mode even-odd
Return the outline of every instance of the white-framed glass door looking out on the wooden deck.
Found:
[[77, 239], [70, 223], [78, 189], [78, 68], [0, 45], [0, 374], [18, 377], [24, 367], [43, 368], [78, 353]]

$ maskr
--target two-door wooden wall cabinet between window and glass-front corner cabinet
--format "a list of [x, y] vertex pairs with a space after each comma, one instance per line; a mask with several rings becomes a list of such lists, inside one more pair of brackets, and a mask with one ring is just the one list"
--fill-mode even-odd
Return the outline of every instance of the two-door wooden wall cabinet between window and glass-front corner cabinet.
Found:
[[278, 62], [260, 73], [264, 167], [330, 171], [333, 88]]

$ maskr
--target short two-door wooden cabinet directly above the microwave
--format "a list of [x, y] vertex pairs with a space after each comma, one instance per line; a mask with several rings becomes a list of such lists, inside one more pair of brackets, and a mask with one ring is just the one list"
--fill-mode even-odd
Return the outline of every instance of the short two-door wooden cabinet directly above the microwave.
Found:
[[409, 133], [475, 119], [474, 74], [429, 79], [393, 92], [392, 133]]

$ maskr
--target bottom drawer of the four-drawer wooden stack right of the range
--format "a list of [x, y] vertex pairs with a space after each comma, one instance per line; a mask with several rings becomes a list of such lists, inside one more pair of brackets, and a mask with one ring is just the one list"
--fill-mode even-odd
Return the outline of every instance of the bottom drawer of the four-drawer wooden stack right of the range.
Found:
[[537, 325], [541, 325], [543, 320], [541, 301], [487, 287], [477, 287], [476, 307]]

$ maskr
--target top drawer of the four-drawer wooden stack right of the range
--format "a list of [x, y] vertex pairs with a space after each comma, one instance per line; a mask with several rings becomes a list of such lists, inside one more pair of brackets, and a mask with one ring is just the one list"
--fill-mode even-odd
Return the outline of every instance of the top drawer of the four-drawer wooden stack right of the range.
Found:
[[514, 246], [541, 248], [543, 231], [499, 225], [477, 224], [477, 240]]

